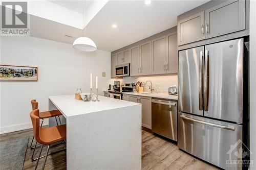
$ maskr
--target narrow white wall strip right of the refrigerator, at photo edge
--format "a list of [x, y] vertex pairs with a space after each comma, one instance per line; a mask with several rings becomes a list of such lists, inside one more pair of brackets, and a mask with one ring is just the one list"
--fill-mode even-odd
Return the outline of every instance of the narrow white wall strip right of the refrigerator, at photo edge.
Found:
[[256, 169], [256, 1], [250, 1], [250, 169]]

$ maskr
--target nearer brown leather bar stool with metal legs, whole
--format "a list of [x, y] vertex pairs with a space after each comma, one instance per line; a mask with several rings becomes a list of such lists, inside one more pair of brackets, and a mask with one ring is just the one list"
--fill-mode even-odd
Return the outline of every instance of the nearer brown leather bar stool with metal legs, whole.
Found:
[[35, 136], [35, 140], [41, 144], [41, 150], [39, 156], [37, 158], [35, 170], [37, 168], [39, 159], [41, 158], [41, 152], [44, 145], [48, 145], [45, 160], [42, 164], [42, 169], [45, 169], [47, 156], [50, 150], [50, 144], [62, 141], [66, 139], [66, 125], [60, 125], [50, 128], [41, 128], [39, 125], [39, 109], [32, 110], [30, 112], [30, 118], [33, 125], [33, 133]]

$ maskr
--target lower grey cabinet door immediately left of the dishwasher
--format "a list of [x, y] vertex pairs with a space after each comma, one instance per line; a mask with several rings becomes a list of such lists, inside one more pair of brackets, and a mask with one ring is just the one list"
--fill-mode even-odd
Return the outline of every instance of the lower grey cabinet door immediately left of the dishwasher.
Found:
[[151, 129], [151, 98], [140, 96], [142, 107], [142, 126]]

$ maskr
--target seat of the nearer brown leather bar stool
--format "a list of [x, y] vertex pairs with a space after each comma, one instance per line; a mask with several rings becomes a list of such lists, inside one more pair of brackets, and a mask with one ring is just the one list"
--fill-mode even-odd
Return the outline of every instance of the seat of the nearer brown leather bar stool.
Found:
[[52, 144], [66, 139], [66, 125], [40, 129], [40, 144]]

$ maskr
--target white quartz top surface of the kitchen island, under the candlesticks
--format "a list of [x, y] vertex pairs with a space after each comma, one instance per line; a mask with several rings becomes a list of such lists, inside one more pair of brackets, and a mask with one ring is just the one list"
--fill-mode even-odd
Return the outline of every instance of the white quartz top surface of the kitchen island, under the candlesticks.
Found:
[[52, 103], [66, 118], [79, 114], [139, 105], [137, 103], [106, 98], [100, 95], [98, 96], [98, 99], [100, 102], [83, 102], [81, 100], [76, 100], [75, 94], [49, 96], [49, 100], [52, 101]]

